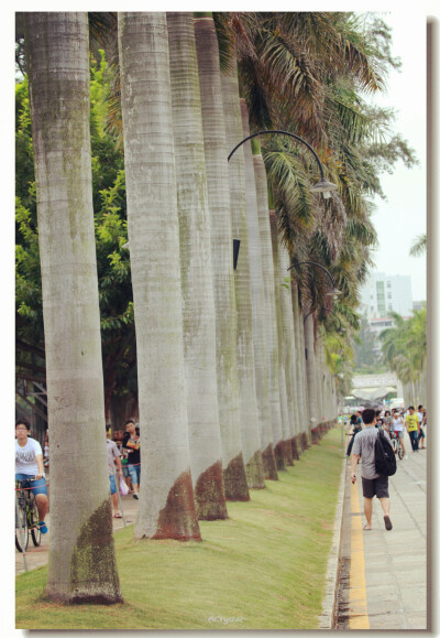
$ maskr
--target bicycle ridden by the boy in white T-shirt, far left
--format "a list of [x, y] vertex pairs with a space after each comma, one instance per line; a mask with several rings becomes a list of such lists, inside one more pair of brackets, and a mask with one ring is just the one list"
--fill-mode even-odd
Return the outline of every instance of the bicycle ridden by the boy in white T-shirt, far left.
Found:
[[29, 533], [35, 548], [41, 544], [40, 516], [35, 495], [29, 489], [34, 477], [15, 480], [15, 547], [19, 552], [25, 552], [29, 545]]

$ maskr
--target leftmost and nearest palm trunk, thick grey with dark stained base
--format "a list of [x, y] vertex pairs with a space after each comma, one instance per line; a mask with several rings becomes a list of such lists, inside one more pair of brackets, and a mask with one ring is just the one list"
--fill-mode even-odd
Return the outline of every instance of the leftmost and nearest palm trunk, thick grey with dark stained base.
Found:
[[89, 133], [87, 13], [26, 13], [47, 413], [46, 594], [122, 602], [107, 467]]

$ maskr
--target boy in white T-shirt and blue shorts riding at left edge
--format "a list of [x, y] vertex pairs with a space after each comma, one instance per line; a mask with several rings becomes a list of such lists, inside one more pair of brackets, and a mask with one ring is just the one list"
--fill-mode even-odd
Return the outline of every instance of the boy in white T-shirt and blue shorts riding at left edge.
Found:
[[31, 483], [22, 485], [29, 487], [35, 495], [38, 508], [38, 527], [43, 534], [47, 533], [44, 518], [48, 509], [46, 479], [44, 478], [43, 451], [35, 439], [29, 436], [31, 425], [25, 419], [15, 423], [15, 480]]

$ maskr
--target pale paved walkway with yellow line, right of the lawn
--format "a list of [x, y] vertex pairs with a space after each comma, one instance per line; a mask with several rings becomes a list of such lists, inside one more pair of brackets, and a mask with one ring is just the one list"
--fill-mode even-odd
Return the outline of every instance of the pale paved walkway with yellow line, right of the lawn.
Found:
[[358, 482], [345, 468], [340, 552], [340, 629], [427, 629], [427, 450], [397, 461], [389, 478], [393, 529], [373, 500], [372, 530], [364, 530], [361, 467]]

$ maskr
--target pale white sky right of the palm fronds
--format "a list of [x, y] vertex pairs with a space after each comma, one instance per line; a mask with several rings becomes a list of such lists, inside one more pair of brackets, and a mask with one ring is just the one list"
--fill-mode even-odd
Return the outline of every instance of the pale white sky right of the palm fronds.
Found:
[[410, 275], [413, 300], [422, 301], [427, 299], [427, 258], [410, 257], [409, 250], [427, 229], [426, 18], [402, 11], [387, 11], [381, 17], [392, 28], [392, 55], [400, 58], [402, 67], [392, 69], [386, 94], [374, 97], [372, 102], [396, 111], [393, 129], [407, 140], [420, 163], [407, 169], [398, 161], [392, 175], [381, 175], [387, 199], [374, 199], [377, 209], [372, 221], [380, 242], [373, 253], [374, 270]]

